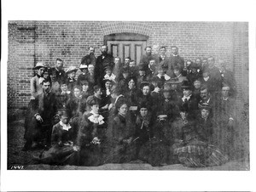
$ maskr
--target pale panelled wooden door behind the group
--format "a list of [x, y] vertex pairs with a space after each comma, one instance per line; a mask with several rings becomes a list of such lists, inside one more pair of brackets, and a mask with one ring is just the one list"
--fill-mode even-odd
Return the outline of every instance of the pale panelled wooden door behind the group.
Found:
[[146, 41], [108, 41], [108, 50], [113, 57], [119, 57], [124, 62], [125, 57], [135, 60], [138, 65], [146, 48]]

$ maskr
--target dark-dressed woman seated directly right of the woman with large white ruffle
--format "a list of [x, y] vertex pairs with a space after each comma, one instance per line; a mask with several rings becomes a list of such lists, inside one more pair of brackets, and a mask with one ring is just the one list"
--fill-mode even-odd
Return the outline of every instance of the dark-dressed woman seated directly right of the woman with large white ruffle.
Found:
[[108, 121], [108, 155], [104, 157], [104, 163], [125, 163], [135, 158], [134, 125], [128, 111], [127, 102], [120, 99], [115, 116]]

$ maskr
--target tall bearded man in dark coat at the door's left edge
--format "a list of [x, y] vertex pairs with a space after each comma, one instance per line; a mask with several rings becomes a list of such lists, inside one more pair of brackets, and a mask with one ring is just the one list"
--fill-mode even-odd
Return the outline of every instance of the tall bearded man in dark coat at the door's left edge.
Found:
[[[102, 85], [102, 80], [104, 78], [104, 68], [107, 65], [110, 65], [113, 68], [113, 56], [108, 54], [108, 46], [102, 45], [101, 48], [102, 54], [97, 57], [95, 65], [95, 82], [98, 85]], [[103, 88], [104, 85], [102, 85]]]

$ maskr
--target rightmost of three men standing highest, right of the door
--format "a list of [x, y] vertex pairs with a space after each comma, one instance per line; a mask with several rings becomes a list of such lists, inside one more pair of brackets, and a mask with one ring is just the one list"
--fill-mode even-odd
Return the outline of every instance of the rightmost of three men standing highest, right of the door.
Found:
[[174, 67], [180, 68], [182, 73], [184, 69], [184, 59], [177, 54], [178, 48], [176, 46], [172, 46], [171, 52], [172, 54], [170, 55], [170, 62], [169, 62], [168, 71], [167, 71], [168, 76], [172, 76]]

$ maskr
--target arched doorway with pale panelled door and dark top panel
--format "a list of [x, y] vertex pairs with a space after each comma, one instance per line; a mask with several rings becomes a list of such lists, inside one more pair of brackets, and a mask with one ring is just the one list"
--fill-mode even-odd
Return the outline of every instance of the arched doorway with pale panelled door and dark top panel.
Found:
[[104, 36], [104, 42], [113, 57], [130, 57], [139, 64], [143, 50], [147, 46], [148, 36], [136, 33], [115, 33]]

